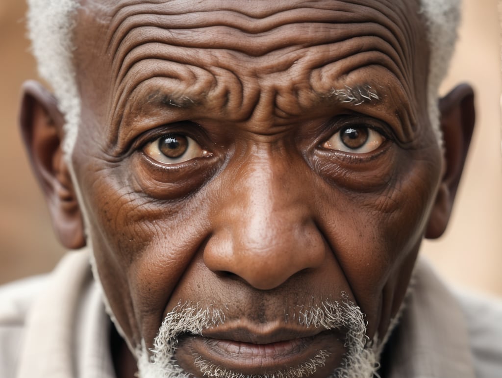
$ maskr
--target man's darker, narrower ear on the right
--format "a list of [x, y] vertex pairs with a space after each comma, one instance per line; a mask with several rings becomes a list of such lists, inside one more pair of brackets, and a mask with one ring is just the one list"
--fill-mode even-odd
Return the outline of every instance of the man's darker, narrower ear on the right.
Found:
[[435, 239], [446, 229], [474, 129], [474, 92], [467, 84], [439, 100], [445, 170], [425, 236]]

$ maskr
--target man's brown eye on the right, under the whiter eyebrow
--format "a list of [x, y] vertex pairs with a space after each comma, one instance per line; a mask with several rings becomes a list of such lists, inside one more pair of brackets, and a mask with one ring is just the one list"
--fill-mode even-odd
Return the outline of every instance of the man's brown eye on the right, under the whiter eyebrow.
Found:
[[328, 150], [338, 150], [353, 154], [366, 154], [378, 149], [386, 138], [366, 126], [348, 126], [334, 134], [321, 146]]

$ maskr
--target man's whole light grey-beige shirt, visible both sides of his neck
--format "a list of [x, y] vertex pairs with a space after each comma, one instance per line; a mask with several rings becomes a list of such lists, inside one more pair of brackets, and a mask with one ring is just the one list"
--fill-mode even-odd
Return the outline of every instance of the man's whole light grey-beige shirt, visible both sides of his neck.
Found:
[[[502, 377], [501, 320], [500, 302], [453, 294], [419, 261], [382, 378]], [[69, 253], [0, 288], [0, 377], [113, 378], [110, 326], [88, 251]]]

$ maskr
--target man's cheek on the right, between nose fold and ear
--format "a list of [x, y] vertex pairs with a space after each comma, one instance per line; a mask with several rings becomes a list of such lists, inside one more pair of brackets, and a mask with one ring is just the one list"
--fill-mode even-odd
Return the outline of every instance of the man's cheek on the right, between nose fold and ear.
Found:
[[378, 191], [336, 188], [319, 204], [325, 209], [321, 231], [366, 314], [369, 330], [387, 322], [404, 295], [439, 182], [439, 165], [432, 158], [411, 161], [397, 156], [396, 161]]

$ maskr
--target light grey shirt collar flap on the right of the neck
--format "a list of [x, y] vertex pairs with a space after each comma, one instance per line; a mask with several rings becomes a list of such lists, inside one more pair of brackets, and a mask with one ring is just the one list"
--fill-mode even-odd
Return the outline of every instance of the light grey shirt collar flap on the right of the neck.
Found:
[[466, 320], [452, 293], [419, 259], [386, 378], [475, 378]]

